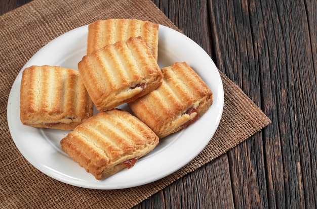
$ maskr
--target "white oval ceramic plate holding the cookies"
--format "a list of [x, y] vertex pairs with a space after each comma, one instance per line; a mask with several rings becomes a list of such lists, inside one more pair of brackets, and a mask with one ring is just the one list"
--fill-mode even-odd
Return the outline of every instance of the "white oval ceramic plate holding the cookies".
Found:
[[[73, 29], [49, 42], [23, 67], [57, 65], [77, 69], [86, 54], [88, 26]], [[172, 174], [189, 163], [214, 135], [223, 109], [223, 86], [219, 72], [208, 54], [187, 36], [165, 26], [159, 29], [159, 65], [187, 62], [213, 91], [214, 103], [199, 120], [161, 139], [155, 149], [131, 169], [96, 180], [74, 163], [60, 148], [68, 131], [33, 128], [20, 122], [22, 71], [13, 83], [8, 100], [8, 124], [12, 138], [27, 161], [46, 175], [74, 186], [94, 189], [122, 189], [147, 184]], [[127, 105], [120, 108], [127, 109]]]

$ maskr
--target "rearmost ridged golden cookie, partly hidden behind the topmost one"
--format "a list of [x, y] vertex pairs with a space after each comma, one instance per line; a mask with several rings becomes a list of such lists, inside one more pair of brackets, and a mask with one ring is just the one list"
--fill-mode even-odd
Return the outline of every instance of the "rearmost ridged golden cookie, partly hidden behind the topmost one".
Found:
[[142, 20], [97, 20], [88, 26], [87, 54], [117, 41], [142, 36], [157, 61], [159, 24]]

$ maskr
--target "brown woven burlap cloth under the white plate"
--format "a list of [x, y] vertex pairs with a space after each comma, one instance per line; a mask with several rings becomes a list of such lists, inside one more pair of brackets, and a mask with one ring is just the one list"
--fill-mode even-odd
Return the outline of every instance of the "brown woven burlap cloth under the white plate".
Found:
[[7, 101], [24, 64], [57, 36], [97, 19], [135, 18], [179, 30], [152, 2], [141, 0], [34, 0], [0, 16], [0, 205], [4, 208], [129, 208], [205, 165], [270, 123], [223, 73], [224, 110], [207, 147], [188, 165], [159, 181], [120, 190], [85, 189], [61, 183], [30, 165], [16, 148], [7, 123]]

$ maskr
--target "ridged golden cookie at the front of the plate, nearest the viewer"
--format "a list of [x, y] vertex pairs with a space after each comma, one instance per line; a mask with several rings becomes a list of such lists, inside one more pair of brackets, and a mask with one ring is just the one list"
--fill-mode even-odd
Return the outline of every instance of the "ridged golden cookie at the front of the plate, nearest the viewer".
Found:
[[97, 179], [113, 167], [140, 158], [159, 143], [155, 133], [130, 113], [113, 109], [100, 112], [77, 126], [61, 147]]

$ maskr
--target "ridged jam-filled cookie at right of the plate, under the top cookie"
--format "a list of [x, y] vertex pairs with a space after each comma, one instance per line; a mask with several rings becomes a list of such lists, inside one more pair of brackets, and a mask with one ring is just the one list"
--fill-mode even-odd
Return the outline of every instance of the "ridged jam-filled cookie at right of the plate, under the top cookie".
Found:
[[160, 138], [197, 120], [212, 105], [212, 92], [187, 63], [162, 68], [162, 85], [129, 103], [135, 115]]

